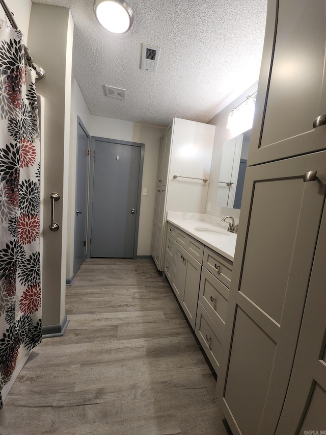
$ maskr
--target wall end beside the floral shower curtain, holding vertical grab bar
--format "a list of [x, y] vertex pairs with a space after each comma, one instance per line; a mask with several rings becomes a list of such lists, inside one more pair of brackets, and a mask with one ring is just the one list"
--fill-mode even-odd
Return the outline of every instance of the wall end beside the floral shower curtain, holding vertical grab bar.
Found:
[[[36, 87], [45, 100], [42, 323], [49, 327], [65, 318], [72, 37], [69, 9], [33, 3], [28, 44], [45, 70]], [[49, 229], [51, 192], [60, 194], [57, 232]]]

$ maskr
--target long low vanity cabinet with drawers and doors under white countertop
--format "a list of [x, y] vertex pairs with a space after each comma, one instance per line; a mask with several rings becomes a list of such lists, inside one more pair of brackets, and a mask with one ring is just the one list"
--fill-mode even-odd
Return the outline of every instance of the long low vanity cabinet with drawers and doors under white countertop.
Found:
[[168, 222], [165, 274], [218, 373], [232, 262]]

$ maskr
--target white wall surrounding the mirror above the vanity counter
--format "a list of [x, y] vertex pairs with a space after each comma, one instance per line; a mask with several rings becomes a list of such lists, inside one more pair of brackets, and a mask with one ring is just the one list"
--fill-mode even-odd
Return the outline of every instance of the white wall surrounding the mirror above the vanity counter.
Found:
[[228, 116], [233, 108], [235, 108], [238, 104], [242, 103], [248, 95], [251, 95], [255, 91], [257, 91], [258, 82], [254, 83], [247, 91], [243, 92], [243, 94], [239, 95], [233, 103], [227, 106], [225, 109], [221, 110], [217, 115], [215, 115], [208, 124], [212, 124], [216, 126], [215, 130], [215, 140], [214, 140], [214, 148], [213, 148], [213, 157], [210, 168], [209, 175], [209, 188], [207, 195], [207, 204], [210, 203], [210, 211], [207, 211], [206, 205], [206, 214], [218, 217], [224, 217], [227, 215], [233, 216], [236, 220], [239, 219], [240, 210], [237, 209], [228, 209], [226, 207], [216, 207], [216, 195], [218, 191], [218, 182], [220, 177], [220, 168], [221, 168], [221, 160], [222, 160], [222, 151], [224, 142], [232, 139], [233, 137], [239, 135], [243, 132], [232, 132], [226, 128], [228, 123]]

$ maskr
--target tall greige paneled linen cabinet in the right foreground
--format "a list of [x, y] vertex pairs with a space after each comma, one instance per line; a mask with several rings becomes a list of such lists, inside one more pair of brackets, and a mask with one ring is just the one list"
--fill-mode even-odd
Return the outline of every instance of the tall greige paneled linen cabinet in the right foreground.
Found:
[[326, 431], [325, 23], [268, 0], [216, 387], [234, 435]]

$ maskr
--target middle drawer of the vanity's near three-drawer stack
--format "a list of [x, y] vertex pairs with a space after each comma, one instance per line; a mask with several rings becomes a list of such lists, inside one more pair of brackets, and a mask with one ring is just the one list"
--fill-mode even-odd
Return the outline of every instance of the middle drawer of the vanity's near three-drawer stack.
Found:
[[199, 300], [222, 332], [225, 327], [228, 299], [229, 289], [205, 267], [202, 267]]

